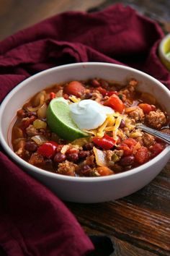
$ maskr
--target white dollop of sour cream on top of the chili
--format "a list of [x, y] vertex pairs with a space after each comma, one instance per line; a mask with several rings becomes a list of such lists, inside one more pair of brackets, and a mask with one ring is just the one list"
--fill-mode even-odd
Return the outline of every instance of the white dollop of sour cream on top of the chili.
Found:
[[107, 114], [115, 111], [107, 106], [97, 103], [97, 101], [84, 100], [69, 105], [71, 118], [80, 129], [96, 129], [104, 123]]

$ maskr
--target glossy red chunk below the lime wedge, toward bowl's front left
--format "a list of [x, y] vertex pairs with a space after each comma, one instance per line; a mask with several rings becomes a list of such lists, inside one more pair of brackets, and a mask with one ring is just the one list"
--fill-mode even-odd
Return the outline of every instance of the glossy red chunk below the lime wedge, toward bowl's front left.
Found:
[[37, 149], [37, 153], [46, 156], [47, 158], [52, 158], [57, 147], [58, 143], [54, 141], [45, 142]]

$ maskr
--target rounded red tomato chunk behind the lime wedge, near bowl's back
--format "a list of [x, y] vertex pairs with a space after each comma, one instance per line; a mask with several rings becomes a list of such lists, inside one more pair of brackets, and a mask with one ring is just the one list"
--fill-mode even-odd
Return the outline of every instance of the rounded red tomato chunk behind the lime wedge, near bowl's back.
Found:
[[78, 81], [69, 82], [69, 84], [66, 85], [64, 88], [64, 93], [68, 95], [75, 95], [76, 97], [80, 97], [80, 95], [84, 93], [84, 91], [84, 85], [82, 85], [81, 82]]

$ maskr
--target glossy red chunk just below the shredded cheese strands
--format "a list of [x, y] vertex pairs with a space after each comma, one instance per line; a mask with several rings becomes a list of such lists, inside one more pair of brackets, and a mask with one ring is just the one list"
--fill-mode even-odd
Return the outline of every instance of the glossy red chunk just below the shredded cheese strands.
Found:
[[109, 137], [108, 135], [104, 135], [104, 137], [94, 137], [93, 139], [94, 144], [98, 145], [99, 147], [109, 150], [115, 145], [115, 140], [112, 137]]

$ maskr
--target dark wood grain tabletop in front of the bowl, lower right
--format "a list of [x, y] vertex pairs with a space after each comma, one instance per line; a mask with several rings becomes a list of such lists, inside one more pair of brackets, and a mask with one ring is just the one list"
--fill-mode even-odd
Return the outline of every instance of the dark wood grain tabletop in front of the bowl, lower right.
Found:
[[169, 256], [169, 170], [170, 161], [153, 182], [128, 197], [99, 204], [69, 202], [68, 208], [88, 234], [112, 238], [113, 255]]

